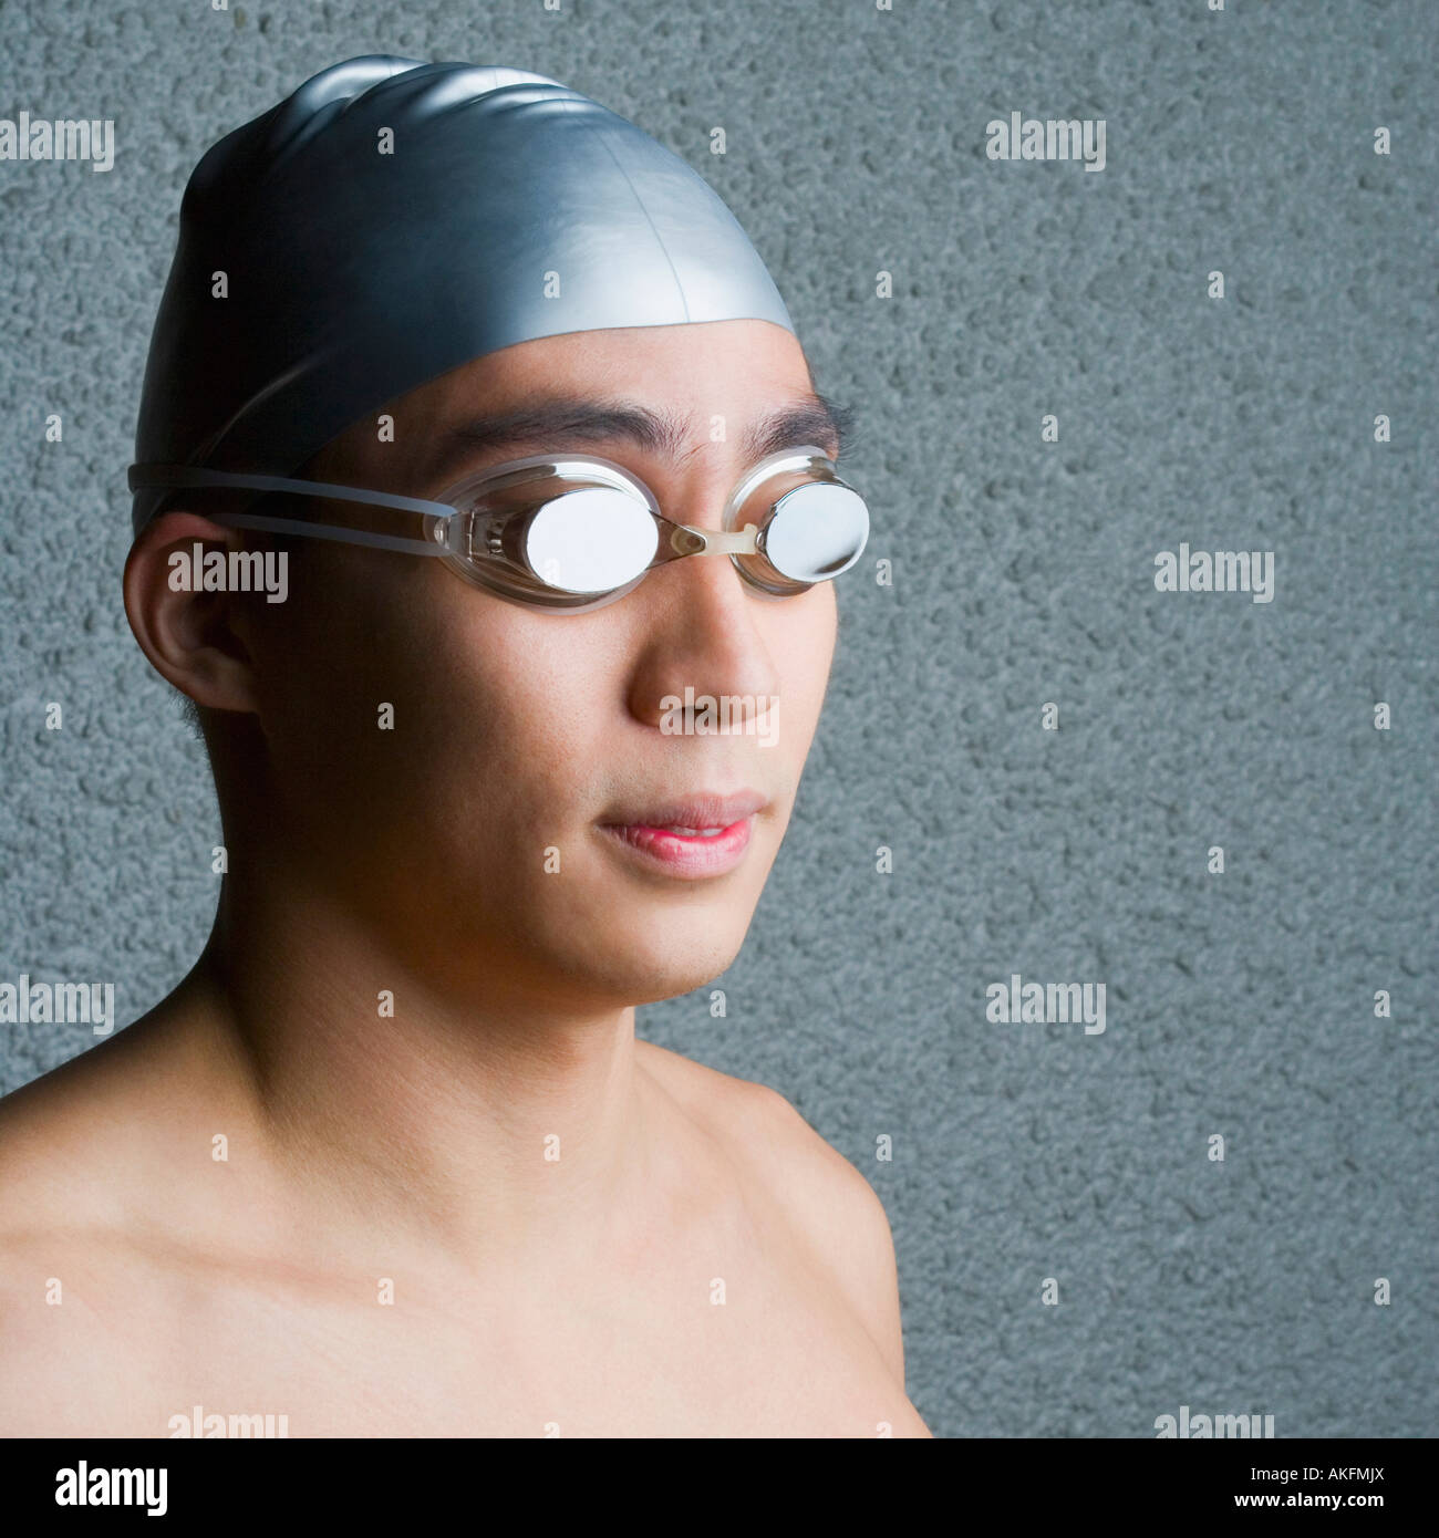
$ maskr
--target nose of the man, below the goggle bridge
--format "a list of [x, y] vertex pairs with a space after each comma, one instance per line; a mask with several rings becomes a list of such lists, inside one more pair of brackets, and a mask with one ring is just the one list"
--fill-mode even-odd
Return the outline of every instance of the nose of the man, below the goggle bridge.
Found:
[[723, 554], [669, 561], [629, 597], [640, 600], [636, 623], [643, 637], [629, 680], [629, 714], [645, 726], [668, 721], [674, 731], [679, 721], [689, 732], [700, 729], [688, 717], [705, 709], [702, 701], [725, 700], [709, 709], [723, 712], [730, 732], [762, 731], [780, 691], [763, 608], [796, 600], [757, 594]]

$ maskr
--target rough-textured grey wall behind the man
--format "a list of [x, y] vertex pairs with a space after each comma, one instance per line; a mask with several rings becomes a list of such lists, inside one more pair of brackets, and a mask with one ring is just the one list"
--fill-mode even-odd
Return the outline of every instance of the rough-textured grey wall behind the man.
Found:
[[[843, 588], [728, 1018], [642, 1030], [873, 1181], [937, 1433], [1433, 1435], [1436, 45], [1428, 0], [0, 5], [0, 114], [119, 146], [0, 163], [0, 977], [112, 978], [129, 1021], [211, 921], [202, 751], [119, 586], [194, 161], [354, 54], [534, 69], [730, 201], [896, 572]], [[1107, 169], [988, 161], [1014, 109], [1103, 117]], [[1273, 549], [1274, 601], [1156, 592], [1180, 540]], [[1103, 981], [1107, 1032], [988, 1024], [1011, 970]], [[0, 1027], [0, 1089], [89, 1044]]]

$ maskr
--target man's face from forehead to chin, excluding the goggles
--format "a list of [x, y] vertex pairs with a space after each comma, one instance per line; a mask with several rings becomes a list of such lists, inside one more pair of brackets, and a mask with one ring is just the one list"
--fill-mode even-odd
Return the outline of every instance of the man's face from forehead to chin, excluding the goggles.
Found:
[[[366, 420], [305, 475], [436, 498], [489, 464], [589, 452], [634, 472], [668, 518], [719, 529], [753, 463], [746, 429], [811, 389], [796, 338], [765, 321], [546, 337], [409, 392], [389, 408], [392, 443]], [[557, 397], [677, 418], [679, 441], [562, 431], [466, 452], [452, 440], [460, 423]], [[805, 441], [834, 448], [814, 429]], [[669, 998], [730, 964], [823, 700], [831, 583], [771, 598], [726, 557], [702, 555], [562, 614], [506, 603], [436, 560], [314, 540], [295, 551], [289, 603], [243, 620], [266, 815], [385, 950], [442, 986], [580, 1006]], [[753, 703], [723, 735], [662, 731], [665, 698], [686, 686]], [[656, 858], [614, 829], [740, 792], [760, 804], [737, 855], [739, 838], [716, 854], [651, 838]]]

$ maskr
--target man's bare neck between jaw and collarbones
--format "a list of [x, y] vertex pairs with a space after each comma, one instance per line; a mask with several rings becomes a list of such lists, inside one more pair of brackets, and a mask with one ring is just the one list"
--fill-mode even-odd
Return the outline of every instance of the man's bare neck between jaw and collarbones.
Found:
[[272, 1178], [326, 1224], [352, 1215], [462, 1261], [602, 1232], [637, 1180], [633, 1007], [457, 990], [334, 894], [275, 875], [226, 875], [186, 983]]

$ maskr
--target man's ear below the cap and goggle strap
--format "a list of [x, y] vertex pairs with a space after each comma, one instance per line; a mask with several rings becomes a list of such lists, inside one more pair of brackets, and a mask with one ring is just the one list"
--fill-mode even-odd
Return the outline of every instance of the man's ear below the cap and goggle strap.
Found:
[[125, 614], [155, 672], [214, 711], [255, 711], [245, 644], [246, 592], [195, 589], [195, 544], [242, 549], [237, 529], [194, 512], [166, 512], [142, 529], [125, 561]]

